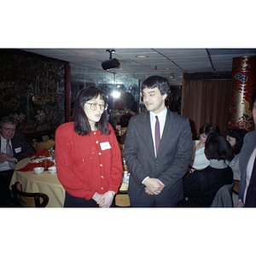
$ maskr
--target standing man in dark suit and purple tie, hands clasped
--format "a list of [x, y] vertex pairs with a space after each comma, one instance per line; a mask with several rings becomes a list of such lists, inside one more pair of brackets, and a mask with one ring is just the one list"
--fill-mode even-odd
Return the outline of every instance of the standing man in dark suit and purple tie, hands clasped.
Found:
[[[143, 82], [142, 89], [148, 111], [131, 118], [123, 152], [131, 172], [131, 207], [176, 207], [183, 199], [182, 177], [192, 155], [189, 119], [166, 108], [170, 90], [167, 79], [151, 76]], [[155, 134], [158, 123], [159, 146], [159, 135]]]

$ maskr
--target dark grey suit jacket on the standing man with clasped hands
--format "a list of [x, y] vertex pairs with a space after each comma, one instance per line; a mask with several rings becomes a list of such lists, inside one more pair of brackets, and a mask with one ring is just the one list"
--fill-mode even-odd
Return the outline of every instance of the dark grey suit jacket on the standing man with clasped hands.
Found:
[[[150, 127], [149, 112], [131, 118], [125, 137], [123, 156], [131, 172], [128, 195], [132, 201], [149, 201], [153, 195], [144, 192], [145, 177], [160, 179], [166, 187], [155, 200], [162, 197], [171, 201], [183, 199], [183, 175], [187, 172], [192, 155], [192, 134], [189, 119], [167, 110], [166, 124], [160, 140], [157, 157]], [[150, 199], [151, 198], [151, 199]]]

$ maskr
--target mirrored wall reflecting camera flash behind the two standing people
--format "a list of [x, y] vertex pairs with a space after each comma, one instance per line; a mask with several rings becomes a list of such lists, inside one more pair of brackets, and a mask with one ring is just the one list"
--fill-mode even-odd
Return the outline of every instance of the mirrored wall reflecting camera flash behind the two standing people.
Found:
[[131, 116], [142, 110], [139, 79], [70, 63], [71, 115], [79, 90], [90, 85], [107, 92], [109, 121], [114, 128], [116, 125], [126, 127]]

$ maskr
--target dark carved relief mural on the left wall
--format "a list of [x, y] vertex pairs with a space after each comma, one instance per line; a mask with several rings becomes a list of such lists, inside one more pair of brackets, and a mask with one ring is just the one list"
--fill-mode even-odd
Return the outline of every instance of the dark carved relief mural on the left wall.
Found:
[[11, 115], [20, 131], [55, 129], [65, 121], [66, 63], [20, 50], [0, 50], [0, 118]]

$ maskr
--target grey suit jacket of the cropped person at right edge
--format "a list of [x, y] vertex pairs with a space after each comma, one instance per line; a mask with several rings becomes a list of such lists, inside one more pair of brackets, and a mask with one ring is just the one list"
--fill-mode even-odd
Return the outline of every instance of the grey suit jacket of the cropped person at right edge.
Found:
[[241, 172], [241, 181], [239, 182], [239, 190], [238, 190], [238, 199], [243, 201], [243, 196], [245, 192], [246, 186], [246, 177], [247, 177], [247, 164], [250, 160], [251, 155], [253, 154], [253, 150], [256, 147], [256, 130], [250, 131], [243, 138], [243, 144], [240, 152], [240, 172]]

